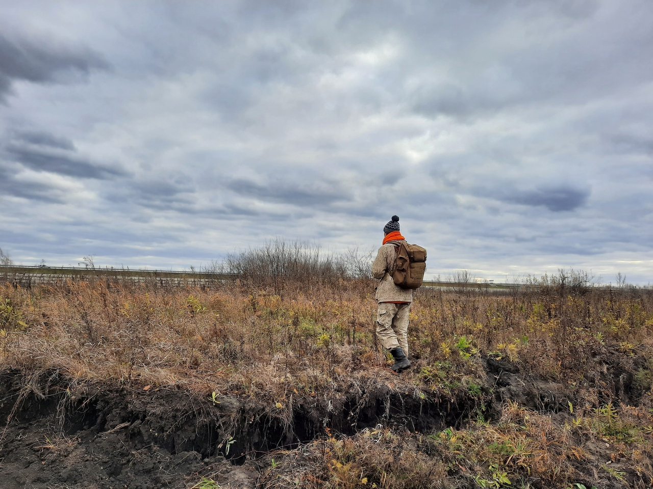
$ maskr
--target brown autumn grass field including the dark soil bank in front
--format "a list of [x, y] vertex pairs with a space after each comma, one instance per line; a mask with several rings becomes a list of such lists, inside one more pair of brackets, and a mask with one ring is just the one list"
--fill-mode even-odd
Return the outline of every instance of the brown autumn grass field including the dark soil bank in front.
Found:
[[12, 488], [644, 488], [653, 292], [420, 289], [403, 374], [363, 278], [0, 288]]

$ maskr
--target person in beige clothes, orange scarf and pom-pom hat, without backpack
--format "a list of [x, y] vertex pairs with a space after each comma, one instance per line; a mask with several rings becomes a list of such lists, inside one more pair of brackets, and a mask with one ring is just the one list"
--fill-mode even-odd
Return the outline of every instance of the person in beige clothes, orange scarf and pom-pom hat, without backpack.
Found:
[[385, 237], [372, 262], [372, 276], [380, 280], [376, 288], [379, 303], [376, 315], [376, 334], [379, 341], [392, 354], [394, 372], [402, 372], [410, 366], [408, 359], [408, 315], [413, 302], [413, 289], [402, 289], [394, 284], [394, 258], [399, 245], [406, 238], [399, 230], [399, 217], [392, 216], [383, 228]]

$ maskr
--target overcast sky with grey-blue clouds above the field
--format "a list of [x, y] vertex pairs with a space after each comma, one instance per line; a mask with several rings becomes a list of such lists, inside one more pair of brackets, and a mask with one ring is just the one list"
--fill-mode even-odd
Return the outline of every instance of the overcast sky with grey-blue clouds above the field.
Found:
[[0, 0], [0, 247], [653, 282], [653, 2]]

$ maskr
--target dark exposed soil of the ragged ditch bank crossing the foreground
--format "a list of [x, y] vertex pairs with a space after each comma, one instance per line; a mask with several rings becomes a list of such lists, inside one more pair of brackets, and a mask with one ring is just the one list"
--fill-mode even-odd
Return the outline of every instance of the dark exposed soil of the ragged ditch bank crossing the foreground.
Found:
[[[0, 486], [190, 488], [210, 477], [222, 486], [253, 488], [263, 454], [327, 433], [353, 435], [378, 424], [428, 433], [460, 426], [479, 409], [492, 417], [508, 399], [558, 416], [559, 423], [569, 417], [575, 399], [562, 383], [528, 378], [505, 360], [485, 359], [483, 366], [486, 385], [475, 398], [424, 396], [424, 391], [415, 396], [379, 382], [374, 389], [331, 398], [296, 396], [281, 407], [229, 397], [214, 402], [156, 387], [82, 388], [57, 372], [5, 371], [0, 373], [0, 416], [7, 421], [1, 432]], [[588, 385], [626, 403], [639, 395], [632, 370], [618, 363], [597, 364]], [[597, 456], [606, 450], [594, 449]], [[631, 470], [619, 460], [612, 467]], [[630, 473], [629, 478], [635, 481]]]

